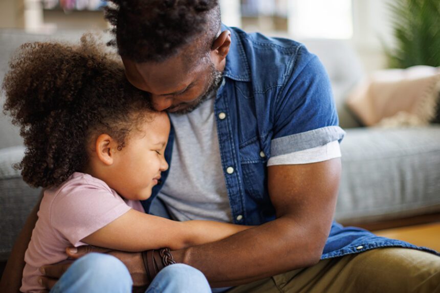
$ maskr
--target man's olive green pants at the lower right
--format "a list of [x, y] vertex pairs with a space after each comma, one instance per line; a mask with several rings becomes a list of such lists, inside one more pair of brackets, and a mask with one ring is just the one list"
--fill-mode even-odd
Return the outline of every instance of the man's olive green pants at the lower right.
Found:
[[411, 249], [380, 248], [321, 260], [227, 292], [440, 293], [440, 257]]

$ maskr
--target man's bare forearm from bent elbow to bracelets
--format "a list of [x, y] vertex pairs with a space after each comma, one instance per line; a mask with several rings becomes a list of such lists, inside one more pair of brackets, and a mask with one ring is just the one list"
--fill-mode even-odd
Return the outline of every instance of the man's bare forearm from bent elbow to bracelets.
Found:
[[316, 240], [310, 229], [284, 217], [173, 255], [200, 269], [212, 286], [234, 286], [316, 263], [326, 235], [318, 233], [323, 239]]

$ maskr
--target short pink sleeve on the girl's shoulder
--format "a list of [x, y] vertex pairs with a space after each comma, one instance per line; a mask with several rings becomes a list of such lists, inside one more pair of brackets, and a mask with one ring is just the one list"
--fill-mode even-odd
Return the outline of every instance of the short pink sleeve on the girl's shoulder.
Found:
[[64, 186], [53, 200], [50, 221], [53, 229], [74, 246], [80, 240], [130, 210], [113, 190], [96, 182], [75, 181]]

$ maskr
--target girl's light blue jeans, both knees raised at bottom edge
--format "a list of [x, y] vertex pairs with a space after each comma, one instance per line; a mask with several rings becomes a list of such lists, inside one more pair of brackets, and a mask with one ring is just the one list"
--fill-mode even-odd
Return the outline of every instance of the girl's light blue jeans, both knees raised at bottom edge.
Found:
[[[75, 261], [61, 276], [51, 293], [131, 292], [133, 281], [127, 267], [116, 257], [91, 253]], [[182, 263], [166, 266], [146, 293], [211, 292], [199, 270]]]

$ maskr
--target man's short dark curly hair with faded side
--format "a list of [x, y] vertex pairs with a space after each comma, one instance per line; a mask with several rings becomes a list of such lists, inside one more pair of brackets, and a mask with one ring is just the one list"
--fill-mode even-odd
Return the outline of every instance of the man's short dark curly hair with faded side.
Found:
[[119, 54], [135, 62], [161, 62], [193, 42], [190, 54], [206, 54], [221, 26], [217, 0], [109, 0]]

